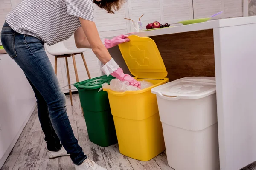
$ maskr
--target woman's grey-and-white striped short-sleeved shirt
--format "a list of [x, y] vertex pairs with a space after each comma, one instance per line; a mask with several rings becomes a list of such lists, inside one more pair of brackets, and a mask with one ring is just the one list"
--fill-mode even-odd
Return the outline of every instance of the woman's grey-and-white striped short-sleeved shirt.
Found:
[[20, 34], [53, 45], [74, 34], [81, 26], [79, 17], [94, 21], [93, 0], [22, 0], [6, 22]]

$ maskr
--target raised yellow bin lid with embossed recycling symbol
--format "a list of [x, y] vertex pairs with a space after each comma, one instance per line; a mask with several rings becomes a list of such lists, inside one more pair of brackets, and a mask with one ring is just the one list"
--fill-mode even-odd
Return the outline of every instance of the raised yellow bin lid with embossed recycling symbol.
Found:
[[154, 40], [137, 35], [128, 38], [119, 49], [131, 74], [138, 79], [164, 79], [168, 73]]

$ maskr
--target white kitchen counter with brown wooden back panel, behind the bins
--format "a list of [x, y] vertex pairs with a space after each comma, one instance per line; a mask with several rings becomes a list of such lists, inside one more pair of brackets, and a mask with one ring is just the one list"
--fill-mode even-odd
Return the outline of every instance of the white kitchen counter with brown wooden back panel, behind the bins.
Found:
[[[256, 16], [132, 33], [156, 42], [170, 81], [216, 77], [221, 170], [256, 161], [255, 30]], [[109, 52], [131, 74], [118, 46]]]

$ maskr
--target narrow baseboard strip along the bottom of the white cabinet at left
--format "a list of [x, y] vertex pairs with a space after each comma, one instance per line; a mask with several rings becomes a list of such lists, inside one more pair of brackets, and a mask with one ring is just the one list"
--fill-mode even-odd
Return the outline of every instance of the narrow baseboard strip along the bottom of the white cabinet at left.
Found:
[[27, 116], [26, 120], [24, 121], [23, 125], [20, 127], [20, 130], [18, 131], [17, 135], [12, 140], [12, 143], [10, 144], [10, 146], [8, 147], [6, 152], [4, 153], [3, 157], [0, 159], [0, 169], [3, 167], [3, 164], [5, 163], [6, 159], [9, 156], [9, 154], [12, 152], [13, 147], [15, 146], [17, 140], [19, 139], [20, 134], [22, 133], [24, 127], [26, 126], [27, 122], [29, 121], [29, 118], [31, 117], [32, 113], [34, 112], [36, 106], [37, 106], [37, 104], [35, 103], [35, 105], [33, 106], [32, 110], [30, 111], [29, 115]]

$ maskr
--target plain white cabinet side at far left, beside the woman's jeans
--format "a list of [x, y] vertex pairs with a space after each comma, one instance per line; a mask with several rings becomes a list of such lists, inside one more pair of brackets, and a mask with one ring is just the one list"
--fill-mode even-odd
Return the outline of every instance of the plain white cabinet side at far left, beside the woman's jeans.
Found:
[[0, 168], [35, 109], [35, 95], [23, 71], [0, 54]]

